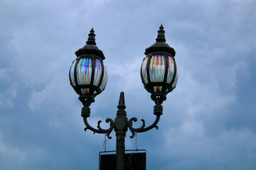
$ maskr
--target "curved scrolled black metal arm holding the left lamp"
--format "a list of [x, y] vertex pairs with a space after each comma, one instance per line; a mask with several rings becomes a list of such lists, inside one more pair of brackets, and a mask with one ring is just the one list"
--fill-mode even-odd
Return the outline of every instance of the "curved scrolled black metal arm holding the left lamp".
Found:
[[86, 128], [85, 128], [85, 131], [88, 129], [88, 130], [92, 130], [92, 132], [95, 133], [105, 133], [107, 134], [107, 137], [109, 139], [111, 139], [112, 137], [110, 137], [110, 133], [112, 132], [113, 128], [114, 128], [114, 121], [111, 119], [111, 118], [107, 118], [106, 119], [106, 123], [110, 123], [110, 128], [108, 128], [107, 130], [105, 129], [102, 129], [100, 127], [100, 123], [102, 122], [102, 120], [99, 120], [97, 122], [97, 129], [95, 128], [92, 128], [92, 126], [89, 125], [88, 121], [87, 121], [87, 118], [90, 117], [90, 108], [89, 107], [83, 107], [82, 108], [82, 113], [81, 113], [81, 116], [85, 122], [85, 125], [86, 125]]

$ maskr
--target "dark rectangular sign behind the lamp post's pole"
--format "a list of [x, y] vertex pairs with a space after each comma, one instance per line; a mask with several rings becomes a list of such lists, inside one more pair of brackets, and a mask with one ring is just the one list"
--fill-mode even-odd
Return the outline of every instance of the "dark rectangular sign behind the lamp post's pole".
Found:
[[[116, 170], [115, 152], [100, 152], [100, 170]], [[126, 153], [125, 170], [146, 170], [146, 151]]]

